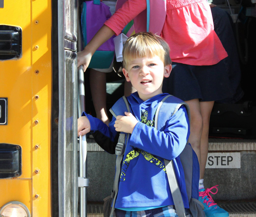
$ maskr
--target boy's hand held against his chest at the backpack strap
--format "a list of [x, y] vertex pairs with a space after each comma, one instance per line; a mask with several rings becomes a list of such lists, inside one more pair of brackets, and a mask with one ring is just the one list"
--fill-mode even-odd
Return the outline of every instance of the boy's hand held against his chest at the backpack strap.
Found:
[[114, 127], [118, 132], [131, 134], [137, 124], [137, 119], [130, 112], [124, 112], [126, 116], [119, 115], [115, 121]]

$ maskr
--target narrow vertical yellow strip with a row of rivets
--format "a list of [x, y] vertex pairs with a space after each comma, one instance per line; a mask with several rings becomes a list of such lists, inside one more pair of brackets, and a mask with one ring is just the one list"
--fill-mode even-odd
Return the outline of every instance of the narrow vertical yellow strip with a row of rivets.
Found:
[[[32, 1], [32, 213], [51, 216], [50, 121], [51, 121], [51, 1]], [[37, 123], [38, 122], [38, 123]], [[42, 133], [43, 132], [43, 133]], [[35, 171], [38, 170], [39, 173]]]

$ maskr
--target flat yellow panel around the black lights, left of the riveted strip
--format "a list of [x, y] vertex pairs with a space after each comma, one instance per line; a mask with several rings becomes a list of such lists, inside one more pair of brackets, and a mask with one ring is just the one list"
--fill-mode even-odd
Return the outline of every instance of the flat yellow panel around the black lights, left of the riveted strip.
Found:
[[22, 29], [22, 58], [0, 61], [0, 97], [8, 97], [8, 125], [0, 125], [0, 143], [22, 147], [20, 178], [31, 178], [32, 163], [30, 9], [29, 1], [18, 0], [5, 0], [4, 8], [0, 8], [1, 24]]

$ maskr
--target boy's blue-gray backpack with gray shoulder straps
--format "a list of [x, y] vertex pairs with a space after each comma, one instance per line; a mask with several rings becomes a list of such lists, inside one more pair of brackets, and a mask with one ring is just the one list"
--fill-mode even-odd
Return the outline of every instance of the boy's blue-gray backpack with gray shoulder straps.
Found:
[[[124, 111], [130, 112], [130, 106], [125, 96], [119, 99], [116, 106], [110, 109], [110, 112], [114, 117], [123, 115]], [[156, 114], [154, 127], [161, 129], [165, 126], [166, 120], [174, 115], [180, 107], [184, 105], [187, 109], [188, 116], [190, 118], [190, 112], [188, 105], [181, 99], [166, 95], [166, 97], [160, 102]], [[120, 133], [118, 144], [116, 146], [116, 176], [114, 181], [114, 187], [112, 194], [104, 199], [104, 217], [113, 217], [115, 202], [118, 194], [118, 184], [121, 171], [121, 162], [125, 151], [126, 143], [129, 139], [130, 134]], [[180, 155], [182, 167], [185, 175], [186, 190], [189, 200], [189, 209], [184, 208], [184, 204], [181, 197], [181, 191], [177, 183], [176, 175], [173, 168], [172, 161], [165, 160], [166, 173], [168, 177], [169, 186], [171, 189], [174, 205], [176, 212], [179, 217], [205, 217], [203, 211], [204, 206], [198, 201], [199, 190], [199, 163], [196, 156], [196, 152], [192, 149], [191, 145], [187, 142], [185, 148]], [[111, 207], [112, 204], [112, 207]]]

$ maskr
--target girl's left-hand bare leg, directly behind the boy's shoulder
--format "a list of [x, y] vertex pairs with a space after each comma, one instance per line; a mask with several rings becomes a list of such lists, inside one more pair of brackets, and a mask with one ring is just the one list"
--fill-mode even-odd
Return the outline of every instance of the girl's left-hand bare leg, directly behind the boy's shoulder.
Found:
[[[201, 109], [198, 99], [192, 99], [185, 101], [190, 108], [190, 136], [189, 143], [196, 152], [199, 166], [201, 168], [201, 149], [200, 142], [203, 131], [203, 120], [201, 115]], [[201, 175], [200, 175], [201, 179]]]

